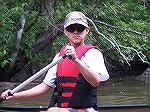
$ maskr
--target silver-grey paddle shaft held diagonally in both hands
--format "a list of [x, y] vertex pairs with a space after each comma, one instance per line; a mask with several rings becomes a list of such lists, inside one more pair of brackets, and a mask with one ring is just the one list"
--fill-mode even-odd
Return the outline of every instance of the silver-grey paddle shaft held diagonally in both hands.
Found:
[[[56, 64], [58, 64], [61, 60], [65, 59], [66, 57], [67, 57], [67, 55], [64, 54], [64, 55], [60, 56], [55, 62], [52, 62], [52, 63], [48, 64], [46, 67], [44, 67], [43, 69], [41, 69], [40, 71], [38, 71], [37, 73], [35, 73], [33, 76], [31, 76], [30, 78], [28, 78], [24, 82], [22, 82], [20, 85], [18, 85], [14, 89], [10, 90], [9, 95], [13, 95], [14, 93], [16, 93], [19, 90], [21, 90], [22, 88], [24, 88], [26, 85], [28, 85], [32, 81], [36, 80], [38, 77], [42, 76], [50, 68], [52, 68], [53, 66], [55, 66]], [[68, 58], [71, 59], [72, 56], [69, 55]], [[0, 102], [2, 102], [3, 100], [5, 100], [5, 99], [3, 99], [3, 98], [0, 97]]]

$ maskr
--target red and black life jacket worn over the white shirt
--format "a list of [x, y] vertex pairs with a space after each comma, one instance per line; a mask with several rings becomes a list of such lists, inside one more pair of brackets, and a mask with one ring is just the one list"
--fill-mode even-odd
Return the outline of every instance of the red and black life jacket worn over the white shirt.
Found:
[[[64, 54], [64, 48], [65, 46], [61, 49], [60, 56]], [[90, 44], [77, 47], [75, 51], [78, 58], [81, 59], [91, 48], [96, 47]], [[85, 80], [72, 60], [65, 58], [58, 64], [55, 82], [58, 107], [95, 108], [97, 106], [97, 88]]]

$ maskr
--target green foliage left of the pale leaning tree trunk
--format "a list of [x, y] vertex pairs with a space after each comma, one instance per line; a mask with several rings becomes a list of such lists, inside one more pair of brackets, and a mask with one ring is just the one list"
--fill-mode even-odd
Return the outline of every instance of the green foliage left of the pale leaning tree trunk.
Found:
[[21, 7], [13, 7], [9, 9], [7, 4], [1, 4], [0, 12], [0, 65], [3, 68], [12, 60], [11, 52], [14, 50], [16, 24], [20, 14]]

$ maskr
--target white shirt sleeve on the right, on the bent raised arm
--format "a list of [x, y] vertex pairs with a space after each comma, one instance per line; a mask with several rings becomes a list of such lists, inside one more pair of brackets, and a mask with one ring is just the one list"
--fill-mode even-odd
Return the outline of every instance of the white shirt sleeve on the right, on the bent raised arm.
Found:
[[89, 49], [81, 60], [89, 67], [89, 69], [100, 74], [100, 81], [109, 79], [103, 55], [98, 49]]

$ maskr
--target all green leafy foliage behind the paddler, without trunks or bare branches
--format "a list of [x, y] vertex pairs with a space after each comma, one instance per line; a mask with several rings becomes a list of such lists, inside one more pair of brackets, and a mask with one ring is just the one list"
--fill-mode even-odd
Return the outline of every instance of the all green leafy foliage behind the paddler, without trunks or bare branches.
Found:
[[[15, 50], [19, 19], [27, 8], [28, 1], [9, 0], [0, 3], [0, 66], [2, 69], [6, 69], [6, 66], [12, 61], [11, 55]], [[129, 61], [134, 60], [137, 56], [137, 53], [130, 48], [141, 52], [141, 56], [145, 60], [150, 60], [150, 9], [148, 3], [137, 2], [137, 0], [96, 0], [94, 2], [90, 0], [59, 0], [55, 11], [48, 10], [49, 13], [54, 13], [53, 17], [40, 15], [40, 8], [43, 7], [43, 4], [41, 1], [33, 0], [32, 10], [26, 19], [16, 65], [20, 65], [22, 56], [38, 62], [52, 60], [61, 46], [68, 42], [63, 33], [57, 35], [53, 44], [45, 47], [43, 51], [35, 52], [34, 46], [41, 33], [49, 29], [50, 18], [55, 24], [63, 24], [66, 14], [74, 10], [85, 13], [93, 20], [101, 33], [111, 41], [117, 42], [118, 45], [124, 46], [120, 47], [120, 50]], [[55, 26], [54, 23], [51, 24]], [[89, 25], [91, 32], [86, 43], [99, 46], [107, 58], [124, 63], [123, 57], [110, 42], [97, 34], [92, 23], [89, 22]], [[62, 32], [62, 29], [60, 30]], [[139, 32], [141, 34], [138, 34]]]

